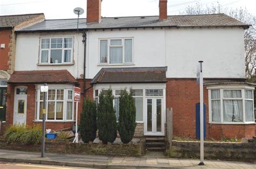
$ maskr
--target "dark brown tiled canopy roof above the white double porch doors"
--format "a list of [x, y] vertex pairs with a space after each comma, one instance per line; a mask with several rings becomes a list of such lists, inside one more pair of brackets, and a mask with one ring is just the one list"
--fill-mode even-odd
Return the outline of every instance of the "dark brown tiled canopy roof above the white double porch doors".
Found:
[[102, 68], [91, 83], [165, 83], [166, 70], [167, 67]]

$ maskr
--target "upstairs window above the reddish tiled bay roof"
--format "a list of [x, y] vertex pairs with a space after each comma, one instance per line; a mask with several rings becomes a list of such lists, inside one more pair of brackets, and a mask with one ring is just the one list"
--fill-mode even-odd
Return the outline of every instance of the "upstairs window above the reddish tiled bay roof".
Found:
[[40, 64], [71, 64], [73, 38], [42, 38]]

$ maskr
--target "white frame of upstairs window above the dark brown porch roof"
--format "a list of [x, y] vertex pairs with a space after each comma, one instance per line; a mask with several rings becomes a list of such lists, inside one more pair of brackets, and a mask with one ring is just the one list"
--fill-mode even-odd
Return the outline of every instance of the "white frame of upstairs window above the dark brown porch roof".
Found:
[[[125, 40], [126, 39], [131, 39], [132, 40], [132, 62], [125, 62]], [[100, 40], [107, 40], [107, 62], [106, 63], [101, 63], [100, 62]], [[111, 40], [122, 40], [122, 45], [111, 45], [110, 41]], [[122, 63], [120, 64], [110, 64], [110, 48], [111, 47], [123, 47], [123, 57], [122, 57]], [[133, 37], [128, 37], [128, 38], [102, 38], [99, 39], [99, 60], [98, 60], [98, 65], [133, 65], [134, 63], [134, 38]]]

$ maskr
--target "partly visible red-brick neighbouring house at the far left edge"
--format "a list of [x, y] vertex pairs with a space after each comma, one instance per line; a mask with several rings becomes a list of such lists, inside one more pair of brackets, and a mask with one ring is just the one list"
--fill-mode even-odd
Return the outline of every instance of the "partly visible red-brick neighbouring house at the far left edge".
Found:
[[44, 19], [43, 13], [0, 16], [0, 121], [5, 121], [7, 82], [15, 67], [15, 31]]

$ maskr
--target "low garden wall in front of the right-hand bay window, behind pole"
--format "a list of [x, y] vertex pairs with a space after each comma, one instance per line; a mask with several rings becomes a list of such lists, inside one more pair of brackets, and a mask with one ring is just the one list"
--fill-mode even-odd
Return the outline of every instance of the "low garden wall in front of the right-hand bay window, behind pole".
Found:
[[[200, 142], [173, 140], [170, 157], [200, 158]], [[256, 162], [256, 143], [205, 142], [204, 157], [206, 159]]]

